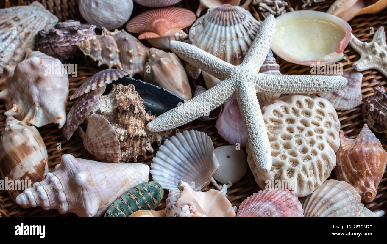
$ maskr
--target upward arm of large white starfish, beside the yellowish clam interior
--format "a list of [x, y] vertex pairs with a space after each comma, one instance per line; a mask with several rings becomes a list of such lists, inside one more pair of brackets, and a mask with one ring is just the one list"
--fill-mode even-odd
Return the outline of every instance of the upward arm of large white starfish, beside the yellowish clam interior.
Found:
[[259, 71], [265, 61], [267, 53], [273, 41], [276, 30], [276, 19], [269, 15], [259, 27], [257, 36], [248, 50], [241, 66], [248, 66], [251, 70]]

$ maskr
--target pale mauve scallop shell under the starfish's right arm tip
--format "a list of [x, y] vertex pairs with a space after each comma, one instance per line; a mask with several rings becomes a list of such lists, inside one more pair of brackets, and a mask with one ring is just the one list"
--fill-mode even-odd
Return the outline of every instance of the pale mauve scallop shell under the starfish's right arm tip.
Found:
[[344, 72], [342, 76], [348, 80], [344, 88], [339, 91], [319, 93], [319, 96], [327, 99], [337, 110], [350, 110], [358, 107], [363, 99], [361, 95], [363, 74], [351, 70]]

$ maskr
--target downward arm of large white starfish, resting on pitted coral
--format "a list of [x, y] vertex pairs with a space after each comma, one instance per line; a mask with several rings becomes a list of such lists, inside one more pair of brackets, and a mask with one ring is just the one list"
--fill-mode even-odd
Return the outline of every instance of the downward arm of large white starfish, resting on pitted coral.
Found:
[[236, 99], [247, 131], [255, 165], [262, 173], [271, 169], [271, 149], [254, 84], [236, 82]]

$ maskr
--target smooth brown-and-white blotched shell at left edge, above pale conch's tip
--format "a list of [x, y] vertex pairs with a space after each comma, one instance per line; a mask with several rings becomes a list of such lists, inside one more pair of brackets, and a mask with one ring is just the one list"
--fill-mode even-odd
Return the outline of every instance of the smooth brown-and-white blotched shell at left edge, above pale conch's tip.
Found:
[[[43, 180], [48, 173], [48, 156], [45, 143], [34, 126], [28, 126], [14, 117], [7, 117], [0, 137], [0, 172], [5, 180], [21, 180], [25, 188]], [[27, 185], [26, 185], [27, 184]], [[8, 190], [12, 198], [22, 193]]]

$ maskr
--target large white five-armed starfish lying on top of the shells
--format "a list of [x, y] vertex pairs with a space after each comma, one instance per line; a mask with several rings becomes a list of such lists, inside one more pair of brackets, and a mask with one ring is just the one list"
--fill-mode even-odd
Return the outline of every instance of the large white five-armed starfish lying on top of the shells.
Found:
[[275, 32], [275, 19], [269, 15], [239, 66], [233, 66], [184, 42], [171, 41], [170, 46], [180, 58], [215, 76], [221, 83], [152, 120], [151, 131], [162, 131], [187, 124], [222, 105], [232, 97], [238, 101], [248, 142], [257, 168], [271, 169], [271, 149], [257, 92], [315, 93], [336, 91], [347, 84], [346, 78], [317, 75], [266, 75], [259, 73]]

